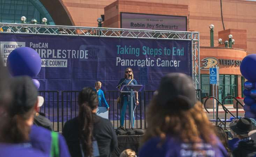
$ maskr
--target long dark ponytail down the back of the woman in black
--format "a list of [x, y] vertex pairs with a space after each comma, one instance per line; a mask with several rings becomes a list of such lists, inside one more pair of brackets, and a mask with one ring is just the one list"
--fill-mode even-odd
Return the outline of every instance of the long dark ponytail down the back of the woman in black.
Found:
[[80, 137], [85, 156], [92, 156], [93, 114], [92, 109], [87, 104], [88, 103], [83, 103], [80, 106]]

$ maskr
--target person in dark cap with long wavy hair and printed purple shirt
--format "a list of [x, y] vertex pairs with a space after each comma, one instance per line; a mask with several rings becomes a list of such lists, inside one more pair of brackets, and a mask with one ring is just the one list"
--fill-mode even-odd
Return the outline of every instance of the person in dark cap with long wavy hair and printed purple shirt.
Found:
[[192, 79], [164, 76], [147, 113], [148, 128], [139, 157], [227, 157], [214, 128], [196, 99]]

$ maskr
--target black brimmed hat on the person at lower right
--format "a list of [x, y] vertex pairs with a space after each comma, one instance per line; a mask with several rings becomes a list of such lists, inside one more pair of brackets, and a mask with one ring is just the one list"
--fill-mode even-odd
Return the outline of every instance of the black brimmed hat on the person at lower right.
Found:
[[240, 118], [237, 122], [229, 125], [229, 127], [237, 134], [248, 137], [251, 130], [256, 129], [249, 118]]

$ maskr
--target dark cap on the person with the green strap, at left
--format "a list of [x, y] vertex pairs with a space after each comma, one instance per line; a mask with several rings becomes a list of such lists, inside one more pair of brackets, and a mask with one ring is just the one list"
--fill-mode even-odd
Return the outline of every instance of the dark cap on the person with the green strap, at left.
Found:
[[12, 78], [11, 91], [13, 101], [10, 113], [23, 114], [28, 112], [37, 102], [37, 89], [29, 76]]

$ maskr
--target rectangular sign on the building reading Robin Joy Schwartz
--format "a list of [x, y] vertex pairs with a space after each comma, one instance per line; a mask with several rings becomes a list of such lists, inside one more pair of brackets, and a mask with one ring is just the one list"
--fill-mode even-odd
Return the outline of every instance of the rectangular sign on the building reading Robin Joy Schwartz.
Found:
[[121, 27], [129, 29], [186, 31], [186, 16], [121, 13]]

